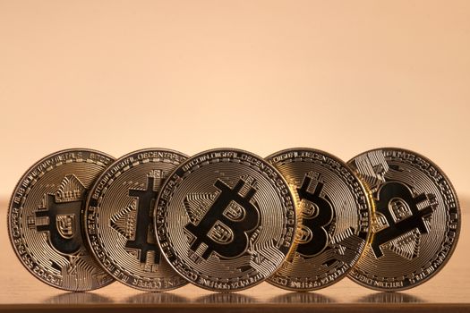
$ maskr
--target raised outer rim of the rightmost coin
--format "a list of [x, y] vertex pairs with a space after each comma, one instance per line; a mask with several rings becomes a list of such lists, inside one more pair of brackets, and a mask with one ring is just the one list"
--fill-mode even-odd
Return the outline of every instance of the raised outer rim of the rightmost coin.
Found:
[[[450, 187], [449, 189], [452, 191], [452, 195], [454, 196], [454, 199], [456, 199], [456, 204], [457, 204], [457, 216], [458, 216], [457, 229], [456, 229], [457, 236], [456, 236], [456, 238], [455, 238], [455, 240], [452, 244], [452, 247], [450, 248], [450, 250], [447, 254], [447, 257], [444, 259], [444, 261], [442, 261], [442, 263], [440, 263], [440, 265], [436, 269], [434, 269], [434, 271], [432, 272], [431, 275], [426, 276], [425, 278], [423, 278], [422, 280], [420, 280], [417, 283], [413, 283], [413, 284], [410, 283], [410, 284], [408, 284], [404, 287], [399, 287], [399, 288], [393, 288], [393, 287], [384, 288], [384, 287], [378, 287], [378, 286], [371, 286], [367, 283], [359, 282], [358, 280], [355, 279], [355, 277], [349, 275], [350, 273], [347, 275], [347, 277], [350, 280], [352, 280], [353, 282], [355, 282], [357, 284], [360, 284], [360, 285], [362, 285], [366, 288], [375, 290], [375, 291], [379, 291], [379, 292], [400, 292], [400, 291], [404, 291], [404, 290], [408, 290], [408, 289], [417, 287], [422, 283], [428, 282], [430, 279], [432, 279], [432, 277], [436, 276], [440, 272], [440, 270], [442, 270], [442, 268], [444, 268], [446, 266], [446, 264], [449, 262], [449, 259], [452, 257], [452, 255], [454, 254], [454, 251], [456, 250], [458, 239], [460, 237], [461, 224], [462, 224], [462, 210], [461, 210], [461, 207], [460, 207], [460, 202], [459, 202], [458, 197], [457, 197], [457, 190], [455, 189], [452, 182], [450, 182], [448, 175], [446, 173], [444, 173], [444, 171], [442, 171], [440, 166], [436, 165], [430, 158], [424, 157], [422, 154], [414, 152], [413, 150], [410, 150], [410, 149], [407, 149], [407, 148], [397, 148], [397, 147], [372, 148], [372, 149], [366, 150], [366, 151], [356, 155], [355, 157], [352, 157], [346, 163], [349, 165], [349, 163], [354, 161], [356, 157], [362, 156], [362, 155], [364, 155], [366, 153], [369, 153], [369, 152], [372, 152], [372, 151], [378, 151], [378, 150], [392, 150], [392, 151], [397, 151], [397, 152], [402, 151], [402, 152], [406, 152], [408, 154], [414, 155], [415, 157], [423, 158], [424, 161], [426, 161], [430, 165], [432, 165], [442, 175], [442, 177], [444, 177], [446, 182], [449, 183], [449, 187]], [[353, 169], [352, 166], [351, 166], [351, 168]], [[355, 170], [353, 169], [353, 171], [355, 171]], [[362, 177], [362, 175], [360, 173], [357, 173], [357, 175]], [[364, 182], [364, 184], [367, 185], [366, 182]], [[369, 186], [368, 186], [368, 188], [370, 189]], [[372, 194], [371, 194], [371, 196], [372, 196]], [[373, 200], [374, 207], [375, 207], [375, 200], [373, 199], [373, 196], [372, 196], [372, 200]], [[374, 211], [374, 214], [375, 214], [375, 211]], [[371, 228], [371, 232], [372, 232], [372, 228]], [[372, 242], [372, 240], [373, 240], [373, 233], [371, 235], [371, 242]]]

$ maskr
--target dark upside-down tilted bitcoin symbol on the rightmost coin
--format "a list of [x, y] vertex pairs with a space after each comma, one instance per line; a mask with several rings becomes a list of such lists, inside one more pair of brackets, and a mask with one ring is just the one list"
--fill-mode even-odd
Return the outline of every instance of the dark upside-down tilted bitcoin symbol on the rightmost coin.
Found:
[[[417, 243], [420, 234], [428, 233], [429, 229], [424, 223], [424, 218], [432, 215], [432, 205], [423, 206], [423, 201], [428, 200], [425, 194], [419, 194], [414, 197], [412, 191], [401, 182], [386, 182], [380, 190], [378, 190], [377, 201], [377, 218], [374, 224], [374, 237], [372, 241], [372, 251], [376, 258], [383, 256], [381, 245], [389, 241], [396, 240], [409, 233], [409, 238], [402, 241], [408, 244], [414, 243], [416, 252], [408, 256], [409, 253], [403, 252], [406, 258], [413, 258], [417, 255]], [[419, 233], [410, 233], [415, 229]], [[413, 248], [413, 247], [412, 247]], [[392, 249], [393, 250], [393, 249]], [[410, 249], [408, 249], [410, 250]], [[396, 249], [400, 255], [401, 251]]]

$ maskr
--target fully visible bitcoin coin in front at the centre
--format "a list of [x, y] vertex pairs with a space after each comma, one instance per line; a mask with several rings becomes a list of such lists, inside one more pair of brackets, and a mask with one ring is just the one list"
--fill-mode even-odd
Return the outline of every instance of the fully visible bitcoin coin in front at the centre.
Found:
[[295, 238], [294, 198], [261, 157], [214, 149], [189, 158], [162, 187], [158, 244], [191, 283], [218, 292], [261, 283]]

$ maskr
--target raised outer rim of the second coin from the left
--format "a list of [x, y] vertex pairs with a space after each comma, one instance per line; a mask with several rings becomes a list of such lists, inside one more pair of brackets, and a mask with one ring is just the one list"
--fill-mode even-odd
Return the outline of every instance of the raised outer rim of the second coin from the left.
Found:
[[[91, 247], [91, 242], [90, 242], [90, 235], [89, 235], [89, 233], [88, 233], [89, 228], [88, 228], [88, 224], [86, 223], [86, 221], [87, 221], [88, 211], [89, 211], [89, 207], [90, 207], [91, 195], [93, 194], [92, 191], [95, 190], [95, 187], [98, 186], [98, 183], [101, 182], [101, 180], [107, 175], [108, 170], [109, 170], [110, 168], [112, 168], [113, 165], [118, 164], [119, 162], [123, 161], [125, 158], [131, 157], [132, 155], [137, 155], [137, 154], [143, 153], [143, 152], [156, 152], [156, 151], [158, 151], [158, 152], [174, 153], [175, 155], [178, 155], [179, 157], [185, 157], [186, 159], [189, 158], [189, 157], [186, 156], [183, 152], [179, 152], [179, 151], [176, 151], [176, 150], [173, 150], [173, 149], [169, 149], [169, 148], [141, 148], [141, 149], [138, 149], [138, 150], [129, 152], [129, 153], [125, 154], [125, 155], [122, 156], [122, 157], [116, 158], [115, 161], [114, 161], [113, 163], [111, 163], [111, 164], [107, 167], [107, 169], [106, 169], [105, 171], [103, 171], [103, 173], [101, 173], [101, 174], [98, 176], [98, 179], [93, 183], [92, 187], [90, 188], [90, 192], [89, 192], [89, 194], [88, 194], [88, 197], [87, 197], [86, 206], [85, 206], [85, 208], [84, 208], [84, 210], [83, 210], [83, 214], [81, 215], [81, 218], [82, 218], [82, 220], [83, 220], [83, 223], [82, 223], [82, 224], [83, 224], [83, 227], [85, 228], [85, 231], [83, 232], [84, 236], [86, 237], [86, 239], [85, 239], [86, 243], [85, 243], [85, 244], [87, 245], [87, 249], [91, 251], [90, 254], [93, 256], [93, 258], [96, 259], [96, 261], [98, 262], [99, 266], [103, 267], [103, 269], [107, 272], [107, 274], [111, 275], [111, 276], [115, 279], [116, 282], [118, 282], [118, 283], [123, 283], [124, 285], [126, 285], [126, 286], [128, 286], [128, 287], [131, 287], [131, 288], [137, 289], [137, 290], [141, 290], [141, 291], [143, 291], [143, 292], [167, 292], [167, 291], [171, 291], [171, 290], [175, 290], [175, 289], [177, 289], [177, 288], [183, 287], [184, 285], [187, 284], [187, 282], [184, 282], [184, 281], [183, 281], [183, 284], [180, 284], [180, 285], [177, 285], [177, 286], [174, 286], [174, 287], [171, 287], [171, 288], [149, 289], [149, 288], [143, 288], [143, 287], [135, 286], [135, 285], [132, 285], [131, 283], [125, 283], [125, 282], [122, 281], [121, 279], [115, 277], [115, 275], [113, 274], [112, 271], [108, 270], [107, 267], [105, 267], [105, 266], [102, 265], [101, 260], [99, 260], [98, 256], [97, 256], [96, 253], [95, 253], [95, 250], [92, 249], [92, 247]], [[185, 162], [185, 161], [184, 161], [184, 162]], [[180, 163], [180, 165], [183, 164], [184, 162]], [[179, 165], [177, 165], [176, 167], [179, 167]], [[171, 173], [173, 173], [173, 171], [172, 171]], [[168, 175], [168, 177], [170, 177], [170, 176]], [[166, 182], [166, 181], [167, 181], [167, 179], [165, 180], [165, 182]], [[164, 183], [163, 183], [161, 186], [163, 186], [163, 185], [164, 185]], [[160, 188], [160, 190], [161, 190], [161, 188]], [[158, 198], [159, 198], [160, 190], [158, 190], [158, 197], [157, 197], [157, 199], [156, 199], [156, 201], [155, 201], [156, 206], [154, 207], [154, 209], [157, 208], [157, 203], [158, 203]], [[99, 194], [101, 195], [101, 192], [100, 192]], [[150, 218], [152, 218], [152, 222], [154, 223], [154, 227], [153, 227], [153, 228], [155, 229], [155, 218], [153, 218], [153, 216], [150, 217]], [[155, 234], [155, 236], [157, 237], [157, 233]], [[99, 236], [98, 236], [98, 237], [99, 237]], [[100, 244], [100, 246], [102, 246], [102, 244]], [[101, 247], [101, 248], [102, 248], [102, 247]], [[160, 250], [160, 254], [163, 255], [163, 252], [162, 252], [162, 250], [161, 250], [161, 248], [160, 248], [159, 245], [158, 245], [158, 249]], [[167, 261], [167, 259], [166, 259], [166, 261]], [[167, 263], [168, 263], [168, 262], [167, 262]], [[118, 262], [114, 262], [114, 265], [118, 265]], [[122, 266], [121, 266], [121, 267], [122, 267]], [[173, 268], [173, 266], [172, 266], [172, 268]], [[122, 268], [122, 269], [125, 270], [124, 268]], [[129, 271], [127, 271], [127, 272], [129, 272]], [[130, 272], [129, 272], [129, 273], [130, 273]], [[180, 275], [179, 272], [175, 272], [175, 273], [176, 273], [177, 275]], [[134, 275], [130, 275], [130, 276], [134, 276]], [[181, 276], [181, 275], [180, 275], [180, 276]]]

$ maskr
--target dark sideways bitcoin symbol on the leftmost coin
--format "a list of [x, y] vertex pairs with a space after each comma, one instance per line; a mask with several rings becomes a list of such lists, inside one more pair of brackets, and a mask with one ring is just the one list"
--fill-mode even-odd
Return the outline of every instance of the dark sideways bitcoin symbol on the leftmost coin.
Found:
[[30, 225], [48, 233], [51, 245], [60, 253], [81, 249], [80, 219], [85, 188], [74, 175], [67, 175], [56, 194], [45, 195], [45, 205], [34, 212]]

